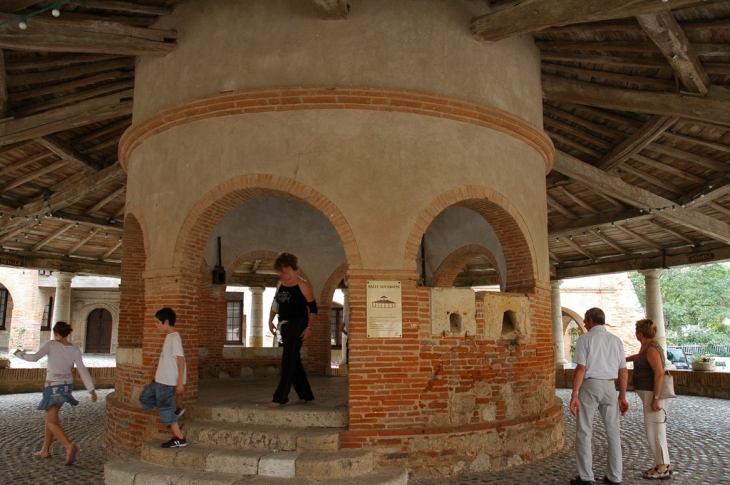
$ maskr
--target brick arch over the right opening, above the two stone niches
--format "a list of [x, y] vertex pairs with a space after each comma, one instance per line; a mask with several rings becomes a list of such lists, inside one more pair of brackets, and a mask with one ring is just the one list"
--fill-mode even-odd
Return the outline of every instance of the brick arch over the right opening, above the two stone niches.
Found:
[[527, 291], [538, 280], [537, 254], [529, 238], [529, 228], [519, 211], [502, 194], [480, 186], [458, 187], [438, 195], [421, 213], [408, 236], [404, 267], [412, 267], [421, 236], [444, 209], [451, 206], [471, 209], [484, 217], [504, 248], [507, 280], [505, 291]]

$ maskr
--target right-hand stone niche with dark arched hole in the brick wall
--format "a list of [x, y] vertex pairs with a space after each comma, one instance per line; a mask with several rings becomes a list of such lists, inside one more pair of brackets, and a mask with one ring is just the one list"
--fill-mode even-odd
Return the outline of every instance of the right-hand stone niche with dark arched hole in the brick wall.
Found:
[[477, 299], [483, 305], [483, 338], [511, 339], [530, 335], [530, 307], [527, 296], [484, 291], [477, 293]]

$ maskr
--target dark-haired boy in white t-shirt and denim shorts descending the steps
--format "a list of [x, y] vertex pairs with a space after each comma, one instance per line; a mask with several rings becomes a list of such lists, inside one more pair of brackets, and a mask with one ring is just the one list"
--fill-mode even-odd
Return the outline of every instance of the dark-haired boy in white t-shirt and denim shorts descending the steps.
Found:
[[155, 379], [142, 390], [139, 402], [142, 409], [149, 411], [157, 408], [162, 424], [172, 431], [172, 439], [162, 444], [163, 448], [181, 448], [187, 446], [187, 440], [177, 424], [179, 411], [175, 408], [175, 394], [182, 395], [187, 383], [187, 368], [180, 334], [175, 331], [175, 312], [171, 308], [163, 308], [155, 313], [157, 329], [165, 334], [165, 343], [160, 353]]

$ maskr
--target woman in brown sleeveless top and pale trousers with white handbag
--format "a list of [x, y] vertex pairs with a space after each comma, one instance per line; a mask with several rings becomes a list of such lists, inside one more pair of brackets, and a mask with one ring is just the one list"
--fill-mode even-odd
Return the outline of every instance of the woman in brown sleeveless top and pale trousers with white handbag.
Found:
[[634, 390], [644, 404], [644, 428], [655, 465], [642, 476], [650, 480], [669, 480], [672, 466], [667, 448], [667, 399], [661, 398], [664, 381], [664, 349], [654, 340], [656, 324], [644, 318], [636, 322], [639, 353], [626, 358], [634, 363]]

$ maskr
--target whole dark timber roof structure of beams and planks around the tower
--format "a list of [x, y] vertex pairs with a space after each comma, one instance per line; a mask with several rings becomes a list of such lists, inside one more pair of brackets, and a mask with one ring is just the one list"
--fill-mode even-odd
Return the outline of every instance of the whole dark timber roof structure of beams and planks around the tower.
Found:
[[[358, 2], [300, 1], [344, 21]], [[555, 278], [730, 259], [730, 1], [470, 1], [478, 41], [541, 53]], [[175, 49], [154, 24], [180, 2], [0, 0], [0, 265], [120, 273], [135, 56]], [[456, 285], [494, 274], [480, 256]]]

